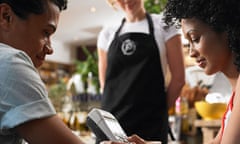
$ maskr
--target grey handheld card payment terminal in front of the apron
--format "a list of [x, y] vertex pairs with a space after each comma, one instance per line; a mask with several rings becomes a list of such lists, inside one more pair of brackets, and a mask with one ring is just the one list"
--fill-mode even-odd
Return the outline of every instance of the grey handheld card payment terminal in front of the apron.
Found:
[[109, 112], [94, 108], [87, 116], [87, 126], [100, 141], [126, 142], [127, 135], [117, 119]]

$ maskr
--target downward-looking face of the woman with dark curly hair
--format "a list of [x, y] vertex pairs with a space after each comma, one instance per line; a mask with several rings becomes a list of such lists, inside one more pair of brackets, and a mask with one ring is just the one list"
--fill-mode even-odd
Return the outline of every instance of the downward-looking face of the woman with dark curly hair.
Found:
[[190, 56], [196, 58], [206, 74], [224, 72], [232, 63], [226, 33], [216, 33], [197, 19], [183, 19], [182, 30], [189, 40]]

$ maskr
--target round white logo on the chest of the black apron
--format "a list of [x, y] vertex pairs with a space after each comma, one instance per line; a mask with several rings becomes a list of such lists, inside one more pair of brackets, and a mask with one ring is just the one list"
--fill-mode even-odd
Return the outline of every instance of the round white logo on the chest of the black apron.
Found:
[[126, 39], [122, 43], [122, 52], [124, 55], [132, 55], [136, 51], [136, 44], [130, 39]]

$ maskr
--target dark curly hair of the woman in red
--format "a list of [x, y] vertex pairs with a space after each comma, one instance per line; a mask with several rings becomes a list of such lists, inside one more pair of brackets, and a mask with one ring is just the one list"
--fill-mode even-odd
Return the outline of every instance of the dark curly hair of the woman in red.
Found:
[[228, 45], [235, 54], [240, 71], [240, 1], [239, 0], [168, 0], [164, 21], [180, 26], [181, 19], [196, 18], [217, 33], [226, 32]]

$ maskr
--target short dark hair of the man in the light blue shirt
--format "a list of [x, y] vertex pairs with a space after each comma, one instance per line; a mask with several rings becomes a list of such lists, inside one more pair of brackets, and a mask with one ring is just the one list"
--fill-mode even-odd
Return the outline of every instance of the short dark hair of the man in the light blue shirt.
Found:
[[[18, 17], [26, 19], [30, 14], [44, 13], [47, 1], [48, 0], [0, 0], [0, 4], [7, 3]], [[56, 4], [60, 11], [67, 8], [67, 0], [49, 1]]]

